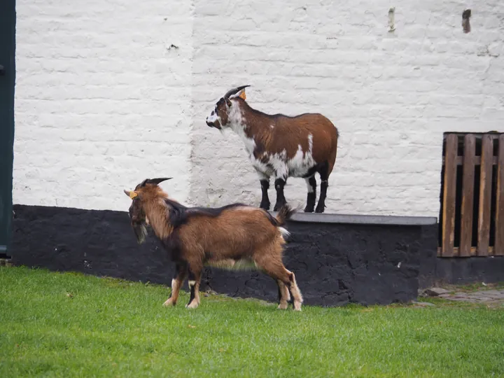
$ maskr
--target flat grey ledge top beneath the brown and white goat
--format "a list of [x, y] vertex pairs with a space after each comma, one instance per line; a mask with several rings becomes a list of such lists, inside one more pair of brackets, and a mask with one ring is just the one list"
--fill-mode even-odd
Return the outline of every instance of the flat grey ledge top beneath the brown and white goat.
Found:
[[[270, 211], [275, 215], [276, 211]], [[429, 216], [363, 216], [351, 214], [316, 214], [295, 213], [291, 218], [295, 222], [341, 223], [355, 225], [435, 225], [437, 218]]]

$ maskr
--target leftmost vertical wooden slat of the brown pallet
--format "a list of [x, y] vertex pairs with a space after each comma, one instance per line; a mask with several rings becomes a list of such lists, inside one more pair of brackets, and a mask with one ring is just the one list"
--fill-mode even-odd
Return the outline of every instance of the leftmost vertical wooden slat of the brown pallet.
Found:
[[455, 189], [456, 189], [456, 155], [458, 138], [448, 134], [444, 153], [444, 190], [442, 209], [442, 255], [454, 255], [455, 230]]

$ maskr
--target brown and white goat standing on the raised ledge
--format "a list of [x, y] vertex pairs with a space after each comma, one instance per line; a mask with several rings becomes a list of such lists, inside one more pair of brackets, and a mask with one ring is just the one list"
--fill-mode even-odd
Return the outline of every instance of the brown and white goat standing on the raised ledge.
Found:
[[335, 165], [338, 131], [328, 118], [317, 113], [289, 117], [257, 111], [245, 101], [245, 88], [234, 88], [218, 100], [207, 117], [207, 125], [223, 130], [230, 127], [243, 139], [246, 151], [258, 173], [262, 200], [260, 207], [269, 210], [269, 179], [275, 176], [274, 211], [286, 204], [283, 187], [288, 177], [306, 180], [308, 195], [305, 212], [313, 212], [316, 179], [321, 177], [321, 193], [316, 213], [323, 213], [328, 180]]

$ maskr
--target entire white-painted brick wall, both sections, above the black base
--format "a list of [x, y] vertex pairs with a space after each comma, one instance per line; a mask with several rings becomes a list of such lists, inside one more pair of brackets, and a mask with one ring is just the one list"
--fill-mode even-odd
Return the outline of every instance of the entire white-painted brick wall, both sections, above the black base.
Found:
[[[328, 212], [437, 216], [442, 133], [504, 131], [497, 0], [20, 0], [17, 10], [15, 203], [125, 209], [124, 186], [170, 174], [179, 200], [258, 205], [241, 141], [204, 124], [235, 85], [253, 85], [247, 99], [261, 111], [337, 125]], [[286, 197], [304, 202], [304, 181], [290, 179]]]

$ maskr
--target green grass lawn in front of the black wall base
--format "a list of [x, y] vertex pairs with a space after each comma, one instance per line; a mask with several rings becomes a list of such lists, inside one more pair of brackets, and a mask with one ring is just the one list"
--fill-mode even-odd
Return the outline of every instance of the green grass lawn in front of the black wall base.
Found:
[[[301, 290], [302, 290], [302, 285]], [[504, 376], [504, 311], [303, 307], [0, 268], [0, 377]]]

